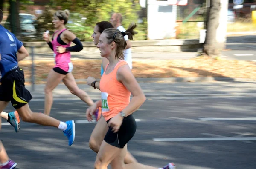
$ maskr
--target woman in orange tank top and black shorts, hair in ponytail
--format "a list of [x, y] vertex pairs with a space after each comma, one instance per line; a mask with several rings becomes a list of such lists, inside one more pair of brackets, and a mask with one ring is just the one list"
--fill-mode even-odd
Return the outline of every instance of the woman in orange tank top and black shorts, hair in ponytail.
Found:
[[[94, 169], [107, 169], [111, 164], [113, 169], [157, 169], [140, 163], [124, 164], [127, 143], [136, 132], [136, 122], [132, 115], [145, 102], [145, 95], [135, 79], [128, 64], [123, 60], [123, 50], [126, 42], [125, 35], [132, 39], [135, 24], [131, 24], [127, 31], [105, 29], [99, 37], [97, 47], [102, 57], [108, 59], [100, 80], [102, 99], [94, 103], [87, 110], [87, 119], [97, 108], [102, 108], [102, 115], [108, 123], [109, 129], [99, 148], [94, 163]], [[130, 95], [133, 95], [130, 101]], [[174, 163], [169, 163], [161, 169], [175, 169]]]

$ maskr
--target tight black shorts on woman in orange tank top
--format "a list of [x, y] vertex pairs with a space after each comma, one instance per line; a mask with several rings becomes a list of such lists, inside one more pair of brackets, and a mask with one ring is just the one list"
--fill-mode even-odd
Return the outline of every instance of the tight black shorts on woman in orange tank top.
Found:
[[[107, 123], [108, 122], [109, 120], [107, 121]], [[136, 121], [131, 114], [123, 119], [122, 125], [120, 126], [118, 132], [113, 133], [112, 128], [109, 127], [108, 132], [105, 135], [104, 141], [112, 146], [122, 149], [134, 136], [136, 128]]]

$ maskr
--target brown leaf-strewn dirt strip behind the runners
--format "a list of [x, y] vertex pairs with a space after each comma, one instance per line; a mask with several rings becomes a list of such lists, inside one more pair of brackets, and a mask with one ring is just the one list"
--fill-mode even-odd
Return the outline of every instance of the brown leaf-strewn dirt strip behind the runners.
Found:
[[[75, 79], [87, 79], [88, 76], [100, 78], [101, 60], [74, 60]], [[25, 72], [25, 78], [31, 77], [31, 62], [21, 61], [19, 66]], [[36, 61], [36, 83], [45, 83], [53, 61]], [[256, 64], [243, 60], [212, 59], [197, 57], [189, 60], [140, 60], [133, 62], [132, 72], [137, 78], [161, 77], [231, 77], [256, 79]]]

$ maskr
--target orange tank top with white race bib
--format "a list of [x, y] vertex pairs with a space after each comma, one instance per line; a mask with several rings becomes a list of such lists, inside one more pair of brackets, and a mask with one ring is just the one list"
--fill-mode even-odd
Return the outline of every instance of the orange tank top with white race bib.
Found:
[[112, 72], [105, 74], [104, 71], [100, 79], [99, 89], [102, 92], [102, 115], [106, 121], [115, 117], [130, 103], [131, 92], [116, 79], [118, 68], [125, 64], [127, 64], [125, 60], [120, 60]]

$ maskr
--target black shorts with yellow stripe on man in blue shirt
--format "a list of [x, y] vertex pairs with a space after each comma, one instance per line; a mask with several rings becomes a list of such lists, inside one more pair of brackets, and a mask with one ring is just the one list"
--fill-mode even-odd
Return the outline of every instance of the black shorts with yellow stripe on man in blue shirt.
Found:
[[11, 101], [15, 109], [19, 109], [32, 99], [25, 88], [24, 72], [18, 66], [10, 70], [1, 78], [0, 101]]

